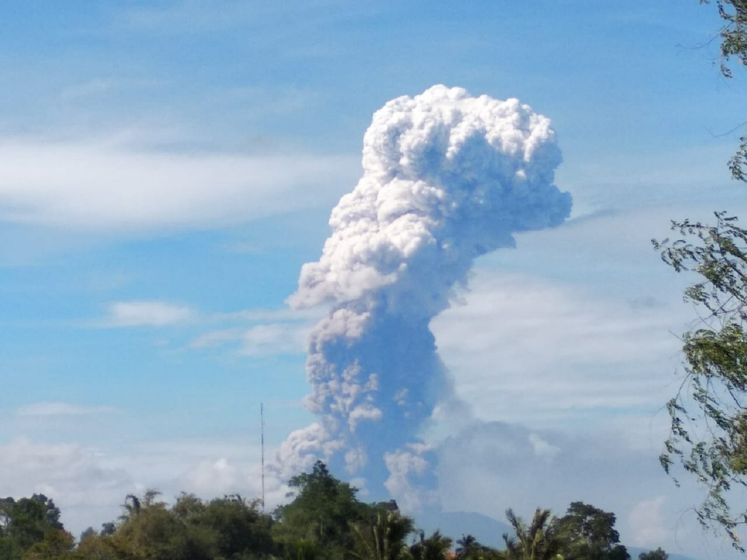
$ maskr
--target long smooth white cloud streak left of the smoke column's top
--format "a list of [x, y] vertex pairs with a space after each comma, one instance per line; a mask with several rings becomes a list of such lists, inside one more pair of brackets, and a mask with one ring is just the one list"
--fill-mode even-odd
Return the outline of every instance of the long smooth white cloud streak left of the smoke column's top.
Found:
[[352, 158], [136, 152], [0, 139], [0, 222], [123, 233], [205, 228], [331, 204]]

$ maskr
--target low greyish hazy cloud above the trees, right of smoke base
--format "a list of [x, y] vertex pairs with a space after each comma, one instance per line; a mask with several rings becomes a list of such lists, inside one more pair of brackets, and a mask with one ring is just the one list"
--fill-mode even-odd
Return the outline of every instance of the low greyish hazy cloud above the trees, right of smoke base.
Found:
[[[538, 456], [536, 438], [555, 451]], [[701, 530], [692, 505], [702, 496], [691, 481], [675, 488], [657, 452], [630, 449], [614, 432], [568, 435], [476, 423], [447, 438], [438, 454], [444, 511], [477, 511], [500, 520], [509, 507], [524, 516], [536, 507], [563, 514], [571, 502], [582, 501], [616, 514], [623, 544], [686, 550], [694, 558], [739, 558], [720, 537]]]

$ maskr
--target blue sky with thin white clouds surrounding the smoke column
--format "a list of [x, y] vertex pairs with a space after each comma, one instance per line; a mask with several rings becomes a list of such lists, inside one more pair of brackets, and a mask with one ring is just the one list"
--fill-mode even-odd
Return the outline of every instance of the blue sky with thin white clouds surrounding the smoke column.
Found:
[[462, 4], [4, 2], [0, 494], [46, 491], [78, 530], [133, 489], [256, 493], [259, 403], [270, 454], [311, 421], [304, 339], [323, 309], [285, 299], [359, 178], [371, 114], [447, 84], [550, 117], [574, 211], [481, 258], [433, 322], [492, 426], [469, 468], [439, 463], [444, 507], [585, 500], [627, 543], [728, 557], [687, 529], [697, 491], [657, 465], [695, 316], [649, 243], [670, 219], [745, 214], [725, 165], [745, 81], [719, 74], [716, 10]]

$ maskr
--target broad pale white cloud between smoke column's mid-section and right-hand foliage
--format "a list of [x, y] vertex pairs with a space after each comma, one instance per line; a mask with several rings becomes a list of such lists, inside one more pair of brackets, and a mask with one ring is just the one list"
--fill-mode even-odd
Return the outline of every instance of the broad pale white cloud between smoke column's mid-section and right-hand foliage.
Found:
[[471, 284], [466, 304], [432, 327], [477, 417], [547, 425], [602, 408], [652, 414], [671, 396], [678, 311], [486, 270]]

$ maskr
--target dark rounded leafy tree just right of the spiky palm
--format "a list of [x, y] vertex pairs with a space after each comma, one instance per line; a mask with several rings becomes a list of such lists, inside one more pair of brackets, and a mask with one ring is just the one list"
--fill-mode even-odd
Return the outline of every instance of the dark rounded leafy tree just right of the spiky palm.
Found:
[[563, 517], [551, 522], [550, 532], [560, 540], [565, 560], [629, 560], [615, 521], [613, 513], [573, 502]]

